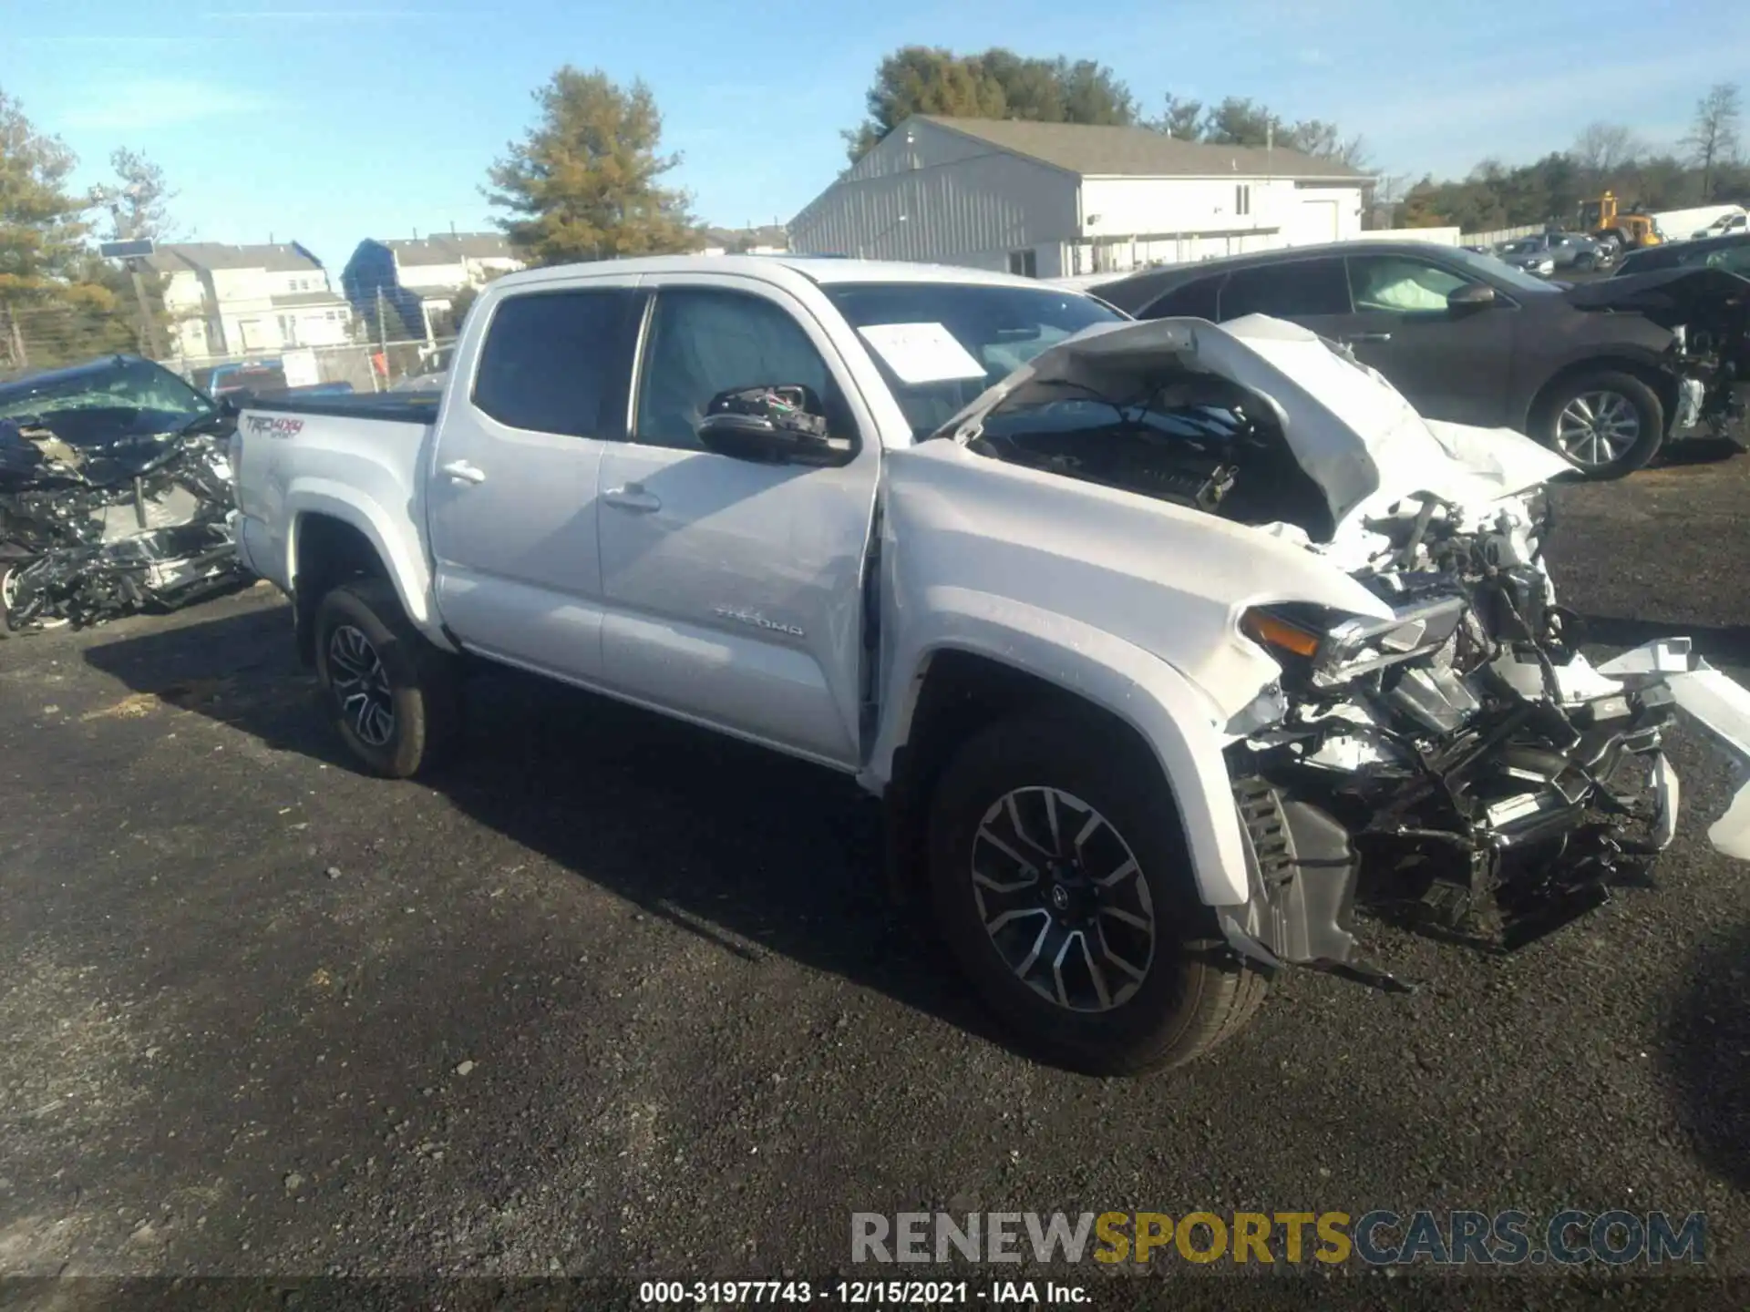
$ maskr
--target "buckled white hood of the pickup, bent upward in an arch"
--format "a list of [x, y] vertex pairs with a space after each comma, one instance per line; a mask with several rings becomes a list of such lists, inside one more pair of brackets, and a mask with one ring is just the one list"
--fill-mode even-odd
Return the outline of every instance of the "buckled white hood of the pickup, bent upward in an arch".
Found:
[[1424, 420], [1377, 371], [1265, 315], [1220, 327], [1200, 318], [1097, 324], [985, 390], [933, 437], [968, 441], [984, 416], [1029, 385], [1132, 397], [1139, 380], [1167, 362], [1225, 376], [1264, 399], [1323, 490], [1337, 535], [1418, 493], [1486, 504], [1570, 469], [1521, 434]]

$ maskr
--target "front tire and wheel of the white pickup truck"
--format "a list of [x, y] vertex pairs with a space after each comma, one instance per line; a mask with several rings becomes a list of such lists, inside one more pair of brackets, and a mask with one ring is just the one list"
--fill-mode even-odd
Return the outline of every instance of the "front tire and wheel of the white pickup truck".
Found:
[[1090, 1074], [1181, 1065], [1265, 978], [1197, 897], [1153, 754], [1097, 714], [1022, 712], [936, 787], [929, 883], [948, 950], [1029, 1048]]

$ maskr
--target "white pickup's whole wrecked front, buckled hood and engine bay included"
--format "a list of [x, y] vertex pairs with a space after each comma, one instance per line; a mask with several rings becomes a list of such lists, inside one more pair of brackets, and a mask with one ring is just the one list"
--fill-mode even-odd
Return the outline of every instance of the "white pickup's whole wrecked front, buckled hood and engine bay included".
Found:
[[[1379, 602], [1236, 611], [1281, 677], [1230, 726], [1251, 887], [1230, 945], [1395, 988], [1354, 960], [1356, 908], [1502, 952], [1643, 880], [1676, 826], [1666, 726], [1718, 694], [1701, 717], [1731, 740], [1750, 694], [1682, 639], [1591, 665], [1544, 563], [1559, 458], [1426, 425], [1304, 329], [1160, 324], [1152, 355], [1125, 327], [1041, 357], [943, 436], [1295, 541]], [[1710, 836], [1750, 855], [1745, 819]]]

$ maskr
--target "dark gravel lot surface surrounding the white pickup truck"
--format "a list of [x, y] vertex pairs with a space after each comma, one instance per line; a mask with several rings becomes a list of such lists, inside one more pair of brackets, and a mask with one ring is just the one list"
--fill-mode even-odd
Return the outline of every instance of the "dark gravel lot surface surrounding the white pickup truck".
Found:
[[[1561, 493], [1596, 651], [1750, 677], [1746, 492]], [[1750, 1274], [1750, 871], [1694, 735], [1656, 889], [1507, 960], [1370, 927], [1421, 994], [1290, 976], [1097, 1081], [1003, 1046], [835, 777], [492, 677], [441, 778], [362, 778], [289, 639], [256, 588], [0, 644], [0, 1274], [819, 1281], [852, 1211], [1381, 1207], [1703, 1211]]]

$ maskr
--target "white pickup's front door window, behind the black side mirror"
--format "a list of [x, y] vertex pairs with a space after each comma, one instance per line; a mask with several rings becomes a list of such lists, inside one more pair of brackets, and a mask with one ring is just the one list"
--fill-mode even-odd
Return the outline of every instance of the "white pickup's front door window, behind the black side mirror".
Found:
[[705, 287], [656, 294], [634, 441], [704, 451], [698, 422], [710, 399], [752, 387], [805, 387], [821, 399], [828, 434], [852, 436], [826, 360], [782, 306]]

